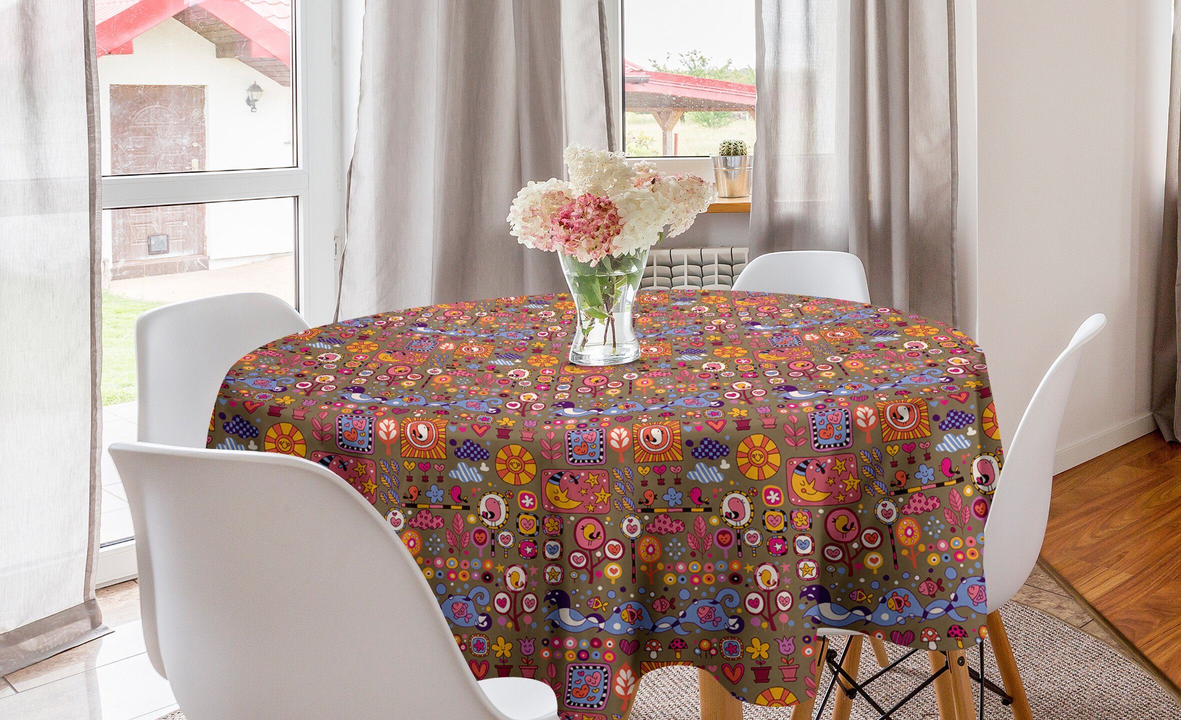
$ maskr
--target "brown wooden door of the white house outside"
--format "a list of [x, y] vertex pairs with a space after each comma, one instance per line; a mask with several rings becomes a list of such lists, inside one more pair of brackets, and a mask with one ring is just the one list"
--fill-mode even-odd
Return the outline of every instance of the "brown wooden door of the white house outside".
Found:
[[[111, 86], [111, 174], [205, 169], [205, 89], [200, 85]], [[115, 210], [112, 280], [209, 268], [205, 208]]]

